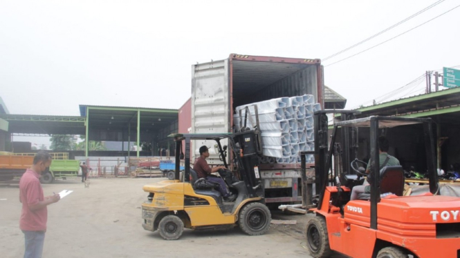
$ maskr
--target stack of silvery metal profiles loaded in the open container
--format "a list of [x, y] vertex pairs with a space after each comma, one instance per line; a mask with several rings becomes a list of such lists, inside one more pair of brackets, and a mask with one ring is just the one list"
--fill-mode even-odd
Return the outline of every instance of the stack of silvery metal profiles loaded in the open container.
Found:
[[[320, 110], [313, 95], [282, 97], [238, 106], [233, 116], [234, 127], [239, 132], [244, 127], [255, 128], [255, 108], [259, 113], [262, 163], [300, 163], [300, 151], [314, 150], [313, 112]], [[241, 115], [240, 115], [241, 114]], [[313, 155], [307, 155], [307, 163], [313, 163]]]

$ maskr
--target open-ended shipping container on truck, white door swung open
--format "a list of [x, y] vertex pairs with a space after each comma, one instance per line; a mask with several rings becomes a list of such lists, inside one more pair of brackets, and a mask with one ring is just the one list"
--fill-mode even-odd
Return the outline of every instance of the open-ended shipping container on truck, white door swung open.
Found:
[[[194, 64], [191, 132], [234, 132], [233, 113], [237, 106], [300, 95], [313, 95], [315, 102], [324, 108], [320, 59], [230, 54], [228, 59]], [[210, 148], [208, 163], [221, 164], [214, 144], [195, 141], [192, 163], [199, 156], [199, 147], [205, 145]], [[259, 170], [264, 179], [266, 202], [301, 200], [300, 164], [261, 164]]]

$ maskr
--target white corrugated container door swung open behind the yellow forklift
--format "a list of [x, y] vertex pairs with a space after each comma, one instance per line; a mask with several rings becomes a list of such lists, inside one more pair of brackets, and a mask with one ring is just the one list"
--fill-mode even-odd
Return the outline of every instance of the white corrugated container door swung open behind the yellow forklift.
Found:
[[[228, 59], [192, 66], [192, 133], [230, 132], [230, 95]], [[227, 141], [222, 141], [227, 145]], [[215, 141], [193, 141], [192, 159], [199, 157], [199, 148], [208, 146], [209, 164], [222, 164]]]

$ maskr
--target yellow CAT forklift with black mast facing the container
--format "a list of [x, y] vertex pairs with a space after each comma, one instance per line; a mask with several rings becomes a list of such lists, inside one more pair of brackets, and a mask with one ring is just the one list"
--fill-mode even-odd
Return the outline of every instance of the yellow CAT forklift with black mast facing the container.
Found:
[[[270, 210], [264, 203], [264, 189], [259, 176], [261, 145], [257, 131], [217, 134], [174, 134], [176, 142], [175, 179], [151, 183], [143, 187], [149, 192], [142, 204], [142, 227], [160, 232], [161, 237], [175, 240], [184, 228], [219, 229], [239, 226], [248, 235], [262, 235], [270, 227]], [[219, 170], [229, 190], [237, 195], [234, 201], [224, 201], [212, 182], [196, 178], [190, 168], [190, 141], [214, 140], [223, 166], [230, 150], [234, 169]], [[228, 141], [229, 146], [221, 142]], [[185, 170], [180, 173], [182, 144], [185, 142]]]

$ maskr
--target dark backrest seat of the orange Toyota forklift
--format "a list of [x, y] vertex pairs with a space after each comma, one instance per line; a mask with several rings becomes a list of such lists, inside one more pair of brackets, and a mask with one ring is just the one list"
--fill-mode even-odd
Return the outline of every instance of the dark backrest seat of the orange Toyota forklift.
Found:
[[[404, 194], [404, 170], [402, 166], [385, 166], [380, 170], [380, 192], [379, 195], [392, 192], [396, 196]], [[358, 195], [358, 199], [371, 199], [370, 193]]]

